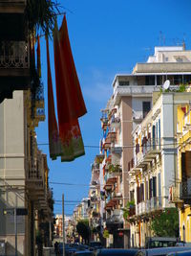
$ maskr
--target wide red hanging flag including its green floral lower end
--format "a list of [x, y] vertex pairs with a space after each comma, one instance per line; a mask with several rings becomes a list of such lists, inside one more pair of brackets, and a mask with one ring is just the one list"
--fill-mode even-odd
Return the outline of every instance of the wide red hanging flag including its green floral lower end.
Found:
[[85, 153], [78, 117], [87, 110], [74, 67], [66, 16], [59, 31], [55, 24], [53, 48], [61, 160], [72, 161]]

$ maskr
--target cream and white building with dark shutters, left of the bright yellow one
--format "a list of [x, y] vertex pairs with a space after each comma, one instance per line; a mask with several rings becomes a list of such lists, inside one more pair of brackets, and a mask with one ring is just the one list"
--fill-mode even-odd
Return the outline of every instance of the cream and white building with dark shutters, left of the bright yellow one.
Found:
[[169, 201], [169, 188], [177, 180], [177, 108], [189, 99], [189, 93], [162, 93], [133, 131], [134, 158], [129, 175], [136, 213], [129, 217], [132, 246], [144, 246], [145, 238], [154, 235], [153, 216], [175, 206]]

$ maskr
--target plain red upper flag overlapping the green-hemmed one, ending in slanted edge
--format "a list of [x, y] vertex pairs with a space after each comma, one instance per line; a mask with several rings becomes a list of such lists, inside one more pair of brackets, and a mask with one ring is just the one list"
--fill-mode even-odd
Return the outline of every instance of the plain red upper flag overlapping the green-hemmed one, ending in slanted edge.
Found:
[[87, 110], [77, 78], [71, 51], [66, 16], [53, 35], [57, 112], [59, 125], [84, 115]]

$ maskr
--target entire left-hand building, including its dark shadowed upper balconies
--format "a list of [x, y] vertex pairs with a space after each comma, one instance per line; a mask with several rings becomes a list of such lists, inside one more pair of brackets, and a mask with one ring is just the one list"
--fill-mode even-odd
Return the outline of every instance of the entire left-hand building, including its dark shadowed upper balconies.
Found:
[[44, 98], [33, 77], [26, 6], [26, 0], [0, 1], [0, 240], [5, 255], [34, 255], [36, 237], [50, 244], [44, 234], [53, 221], [47, 158], [36, 142], [35, 128], [45, 119]]

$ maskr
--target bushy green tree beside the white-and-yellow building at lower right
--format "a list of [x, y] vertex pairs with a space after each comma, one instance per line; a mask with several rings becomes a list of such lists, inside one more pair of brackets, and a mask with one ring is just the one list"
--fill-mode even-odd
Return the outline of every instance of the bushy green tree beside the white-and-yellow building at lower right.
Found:
[[166, 208], [153, 216], [151, 229], [159, 237], [179, 237], [179, 211], [177, 208]]

